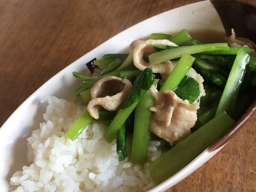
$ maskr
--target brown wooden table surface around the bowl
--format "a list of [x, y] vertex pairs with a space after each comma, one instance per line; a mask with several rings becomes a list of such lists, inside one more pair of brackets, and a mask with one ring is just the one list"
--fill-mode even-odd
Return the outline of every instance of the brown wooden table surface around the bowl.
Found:
[[[0, 0], [0, 125], [47, 79], [108, 38], [194, 2]], [[256, 191], [255, 122], [256, 114], [225, 148], [168, 191]]]

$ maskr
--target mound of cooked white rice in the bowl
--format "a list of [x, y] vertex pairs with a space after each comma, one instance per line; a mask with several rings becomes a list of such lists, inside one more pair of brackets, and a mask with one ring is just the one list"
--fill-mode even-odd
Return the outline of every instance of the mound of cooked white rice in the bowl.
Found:
[[[45, 122], [27, 139], [31, 164], [13, 174], [14, 191], [144, 191], [155, 186], [146, 169], [149, 163], [118, 161], [116, 140], [108, 143], [103, 138], [106, 125], [93, 122], [75, 141], [65, 138], [83, 107], [56, 97], [45, 101]], [[150, 141], [149, 161], [162, 154], [160, 144]]]

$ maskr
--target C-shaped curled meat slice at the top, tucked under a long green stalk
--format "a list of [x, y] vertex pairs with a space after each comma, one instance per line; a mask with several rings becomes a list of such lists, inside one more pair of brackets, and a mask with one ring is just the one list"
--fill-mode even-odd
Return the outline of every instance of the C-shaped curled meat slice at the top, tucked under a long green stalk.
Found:
[[[134, 66], [140, 70], [144, 70], [150, 63], [146, 62], [143, 57], [147, 57], [154, 52], [153, 45], [169, 45], [177, 46], [175, 43], [170, 42], [167, 39], [149, 39], [146, 41], [136, 41], [131, 43], [132, 47], [135, 47], [133, 52]], [[166, 61], [151, 66], [153, 73], [169, 74], [172, 70], [172, 62]]]

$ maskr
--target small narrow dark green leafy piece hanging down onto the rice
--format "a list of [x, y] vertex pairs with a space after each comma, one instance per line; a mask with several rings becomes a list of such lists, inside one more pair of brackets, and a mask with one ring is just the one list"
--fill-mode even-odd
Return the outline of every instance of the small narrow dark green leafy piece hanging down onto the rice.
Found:
[[118, 154], [119, 161], [123, 161], [128, 156], [127, 149], [126, 149], [126, 126], [125, 126], [125, 124], [123, 124], [117, 132], [116, 152]]

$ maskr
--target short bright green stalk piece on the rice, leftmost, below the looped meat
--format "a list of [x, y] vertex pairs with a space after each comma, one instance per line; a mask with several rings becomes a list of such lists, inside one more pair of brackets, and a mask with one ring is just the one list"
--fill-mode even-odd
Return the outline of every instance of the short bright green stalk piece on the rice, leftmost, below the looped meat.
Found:
[[82, 133], [84, 128], [92, 122], [92, 116], [89, 114], [87, 109], [78, 117], [75, 123], [69, 128], [69, 130], [65, 133], [65, 137], [74, 141], [79, 134]]

